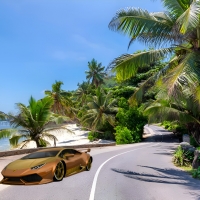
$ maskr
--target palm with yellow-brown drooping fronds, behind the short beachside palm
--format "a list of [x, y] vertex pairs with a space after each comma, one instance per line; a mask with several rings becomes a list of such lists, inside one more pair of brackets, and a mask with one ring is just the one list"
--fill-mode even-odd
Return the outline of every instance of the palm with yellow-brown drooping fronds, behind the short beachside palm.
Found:
[[63, 82], [55, 81], [52, 84], [52, 91], [46, 90], [45, 94], [54, 99], [54, 103], [52, 105], [51, 110], [60, 115], [67, 115], [69, 117], [73, 117], [74, 114], [72, 112], [72, 101], [70, 99], [70, 93], [61, 89]]

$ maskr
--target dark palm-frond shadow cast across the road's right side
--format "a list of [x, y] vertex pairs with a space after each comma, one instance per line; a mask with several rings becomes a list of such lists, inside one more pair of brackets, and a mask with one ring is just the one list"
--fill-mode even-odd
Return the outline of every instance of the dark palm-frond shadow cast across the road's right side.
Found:
[[[123, 174], [127, 178], [144, 181], [144, 182], [154, 182], [154, 183], [165, 183], [165, 184], [178, 184], [178, 185], [184, 185], [185, 187], [188, 187], [188, 189], [195, 194], [195, 190], [199, 191], [200, 188], [200, 180], [192, 178], [189, 174], [186, 172], [174, 169], [174, 168], [157, 168], [157, 167], [150, 167], [150, 166], [141, 166], [142, 168], [147, 168], [149, 170], [154, 170], [152, 173], [147, 172], [134, 172], [134, 171], [127, 171], [123, 169], [115, 169], [112, 168], [111, 170]], [[191, 193], [192, 194], [192, 193]], [[198, 198], [200, 198], [200, 194]]]

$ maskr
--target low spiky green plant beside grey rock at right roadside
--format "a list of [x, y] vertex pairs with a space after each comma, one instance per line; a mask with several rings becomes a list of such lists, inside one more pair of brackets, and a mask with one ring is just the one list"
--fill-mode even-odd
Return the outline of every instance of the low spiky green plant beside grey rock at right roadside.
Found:
[[177, 166], [190, 166], [192, 164], [192, 161], [194, 159], [194, 155], [192, 152], [187, 151], [185, 152], [181, 146], [178, 146], [176, 151], [174, 152], [173, 156], [173, 162]]

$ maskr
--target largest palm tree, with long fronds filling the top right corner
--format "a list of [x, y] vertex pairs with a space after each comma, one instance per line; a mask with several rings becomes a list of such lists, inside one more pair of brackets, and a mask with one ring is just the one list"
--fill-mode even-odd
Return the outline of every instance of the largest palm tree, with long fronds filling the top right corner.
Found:
[[[168, 95], [176, 96], [183, 86], [195, 89], [200, 81], [200, 1], [162, 0], [167, 12], [127, 8], [116, 13], [109, 28], [155, 49], [124, 54], [114, 59], [109, 69], [118, 80], [126, 80], [160, 58], [173, 55], [169, 64], [148, 78], [130, 98], [141, 102], [146, 90], [162, 79]], [[157, 48], [157, 49], [156, 49]], [[164, 76], [163, 76], [164, 75]]]

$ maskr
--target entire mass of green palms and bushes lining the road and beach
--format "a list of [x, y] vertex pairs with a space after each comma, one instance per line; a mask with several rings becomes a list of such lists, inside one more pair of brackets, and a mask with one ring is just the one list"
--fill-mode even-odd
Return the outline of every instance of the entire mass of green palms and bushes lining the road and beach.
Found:
[[[164, 12], [126, 8], [109, 23], [110, 30], [130, 38], [128, 47], [139, 41], [146, 49], [111, 58], [107, 67], [93, 58], [88, 62], [86, 80], [78, 83], [75, 91], [65, 91], [61, 88], [64, 83], [55, 81], [43, 99], [31, 98], [28, 106], [18, 103], [18, 115], [1, 112], [2, 119], [24, 127], [21, 132], [27, 134], [16, 136], [2, 130], [0, 139], [10, 137], [11, 144], [17, 144], [17, 138], [26, 137], [27, 142], [35, 140], [37, 146], [46, 146], [42, 137], [47, 133], [46, 125], [67, 118], [89, 130], [91, 141], [130, 144], [142, 141], [146, 123], [161, 123], [179, 138], [189, 134], [190, 143], [198, 150], [200, 2], [161, 1]], [[174, 154], [178, 166], [190, 167], [193, 159], [181, 147]], [[199, 171], [193, 170], [193, 176], [199, 177]]]

